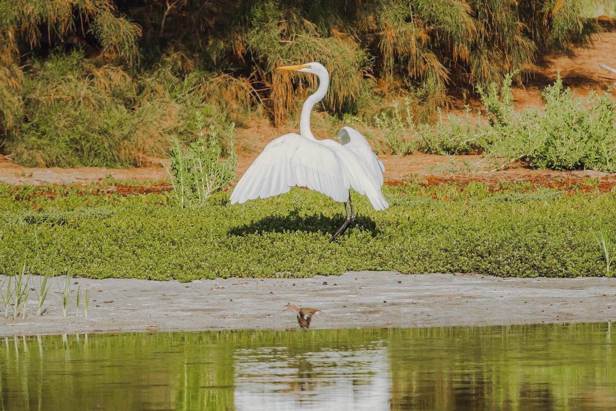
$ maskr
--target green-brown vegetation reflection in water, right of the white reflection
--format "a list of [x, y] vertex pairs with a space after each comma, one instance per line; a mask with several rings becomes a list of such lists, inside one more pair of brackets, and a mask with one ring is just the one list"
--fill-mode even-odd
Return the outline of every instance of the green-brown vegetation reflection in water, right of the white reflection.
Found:
[[610, 324], [395, 330], [392, 410], [611, 409], [612, 338]]

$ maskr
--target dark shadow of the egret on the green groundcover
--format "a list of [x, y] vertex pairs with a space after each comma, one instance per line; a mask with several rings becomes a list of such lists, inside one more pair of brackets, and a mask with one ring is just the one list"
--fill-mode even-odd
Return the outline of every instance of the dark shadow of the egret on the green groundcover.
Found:
[[[286, 216], [267, 216], [260, 220], [243, 224], [229, 230], [229, 234], [245, 236], [249, 234], [262, 235], [267, 232], [309, 232], [333, 235], [340, 224], [344, 222], [344, 216], [337, 214], [333, 217], [323, 214], [299, 215], [297, 210], [290, 211]], [[356, 216], [355, 221], [349, 226], [349, 231], [369, 231], [372, 237], [376, 236], [376, 223], [373, 219], [365, 216]]]

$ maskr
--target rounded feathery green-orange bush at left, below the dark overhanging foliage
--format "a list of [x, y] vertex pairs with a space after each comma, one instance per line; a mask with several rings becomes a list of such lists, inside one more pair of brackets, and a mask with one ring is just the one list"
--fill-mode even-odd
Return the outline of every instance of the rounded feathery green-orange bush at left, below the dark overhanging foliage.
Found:
[[[196, 71], [180, 79], [161, 66], [134, 77], [83, 57], [55, 52], [44, 62], [28, 60], [22, 78], [0, 82], [0, 92], [10, 87], [12, 97], [0, 102], [6, 107], [2, 145], [17, 163], [140, 166], [167, 157], [172, 136], [194, 140], [197, 115], [227, 128], [251, 104], [249, 87], [230, 76]], [[241, 106], [230, 106], [240, 98]]]

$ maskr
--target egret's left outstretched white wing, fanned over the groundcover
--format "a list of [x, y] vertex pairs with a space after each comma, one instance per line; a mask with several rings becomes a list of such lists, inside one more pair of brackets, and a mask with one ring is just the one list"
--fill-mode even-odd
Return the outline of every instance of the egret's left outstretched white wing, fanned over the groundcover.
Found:
[[336, 201], [349, 198], [349, 178], [334, 150], [290, 133], [265, 146], [235, 186], [231, 203], [286, 193], [295, 185]]

